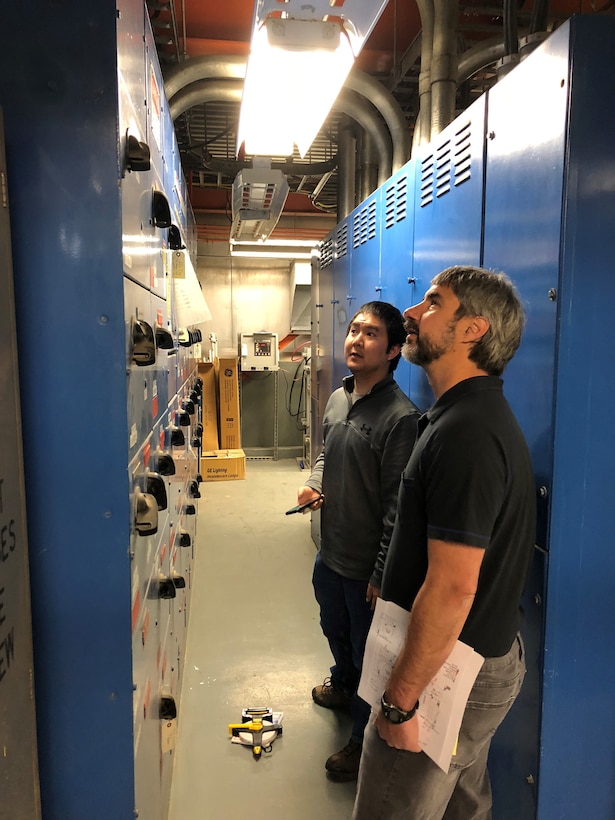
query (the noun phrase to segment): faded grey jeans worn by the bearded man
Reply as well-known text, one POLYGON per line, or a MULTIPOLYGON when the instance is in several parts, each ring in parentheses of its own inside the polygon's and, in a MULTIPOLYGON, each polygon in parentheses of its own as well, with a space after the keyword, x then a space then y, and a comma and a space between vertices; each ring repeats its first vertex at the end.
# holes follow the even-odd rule
POLYGON ((387 746, 370 722, 352 820, 490 820, 489 746, 524 675, 525 653, 518 635, 506 655, 485 660, 470 692, 448 774, 424 752, 387 746))

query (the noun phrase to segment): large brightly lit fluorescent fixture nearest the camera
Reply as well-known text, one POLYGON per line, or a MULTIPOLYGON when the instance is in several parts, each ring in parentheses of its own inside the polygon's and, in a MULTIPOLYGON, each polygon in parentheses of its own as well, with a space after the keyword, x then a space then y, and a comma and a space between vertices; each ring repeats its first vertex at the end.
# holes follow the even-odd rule
POLYGON ((257 0, 237 152, 304 157, 388 0, 257 0))

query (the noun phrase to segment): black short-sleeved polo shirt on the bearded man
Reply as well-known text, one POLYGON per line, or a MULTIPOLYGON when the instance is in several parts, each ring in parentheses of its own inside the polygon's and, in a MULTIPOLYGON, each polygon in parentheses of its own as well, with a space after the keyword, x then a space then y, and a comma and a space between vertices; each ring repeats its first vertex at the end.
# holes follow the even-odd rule
POLYGON ((418 422, 399 490, 382 597, 411 609, 429 538, 485 550, 460 640, 485 657, 510 649, 532 559, 536 491, 527 444, 495 376, 466 379, 418 422))

